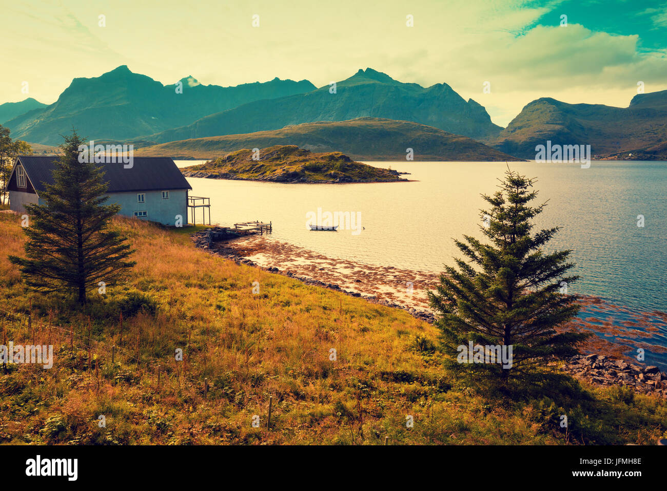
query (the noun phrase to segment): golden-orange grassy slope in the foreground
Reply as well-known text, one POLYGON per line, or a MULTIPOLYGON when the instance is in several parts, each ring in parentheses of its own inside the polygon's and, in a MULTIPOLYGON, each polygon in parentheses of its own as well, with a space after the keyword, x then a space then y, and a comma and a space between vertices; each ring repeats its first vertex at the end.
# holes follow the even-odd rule
POLYGON ((113 226, 137 267, 77 315, 25 290, 5 257, 21 253, 19 218, 0 214, 3 343, 55 345, 53 369, 0 370, 1 443, 653 444, 667 430, 664 401, 620 389, 477 393, 440 366, 434 327, 404 311, 214 257, 187 230, 113 226))

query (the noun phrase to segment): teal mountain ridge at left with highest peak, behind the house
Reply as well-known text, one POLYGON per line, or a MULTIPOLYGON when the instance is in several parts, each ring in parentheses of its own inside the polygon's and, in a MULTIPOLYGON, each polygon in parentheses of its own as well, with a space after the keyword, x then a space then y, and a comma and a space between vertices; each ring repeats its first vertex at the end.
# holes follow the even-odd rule
POLYGON ((273 79, 236 87, 204 86, 193 77, 163 86, 123 65, 99 77, 75 78, 58 100, 9 122, 14 136, 57 144, 72 126, 92 140, 129 139, 189 124, 247 102, 280 98, 315 88, 307 80, 273 79))

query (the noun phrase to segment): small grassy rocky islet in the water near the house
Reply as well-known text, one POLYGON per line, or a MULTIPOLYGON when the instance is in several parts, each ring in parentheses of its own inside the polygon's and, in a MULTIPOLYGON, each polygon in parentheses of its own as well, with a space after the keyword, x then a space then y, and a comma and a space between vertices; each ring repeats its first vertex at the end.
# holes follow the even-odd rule
POLYGON ((354 162, 341 152, 314 153, 296 145, 275 145, 259 152, 244 148, 181 172, 185 177, 318 184, 407 181, 396 170, 354 162))

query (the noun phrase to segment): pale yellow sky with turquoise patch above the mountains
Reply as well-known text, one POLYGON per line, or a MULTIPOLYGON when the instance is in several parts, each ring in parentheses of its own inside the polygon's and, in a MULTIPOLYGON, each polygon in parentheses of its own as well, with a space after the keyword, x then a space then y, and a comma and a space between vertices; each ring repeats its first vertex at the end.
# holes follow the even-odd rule
POLYGON ((51 104, 74 77, 119 65, 163 84, 318 87, 372 67, 449 84, 500 126, 540 97, 627 107, 638 82, 667 89, 667 0, 0 0, 0 12, 0 103, 51 104))

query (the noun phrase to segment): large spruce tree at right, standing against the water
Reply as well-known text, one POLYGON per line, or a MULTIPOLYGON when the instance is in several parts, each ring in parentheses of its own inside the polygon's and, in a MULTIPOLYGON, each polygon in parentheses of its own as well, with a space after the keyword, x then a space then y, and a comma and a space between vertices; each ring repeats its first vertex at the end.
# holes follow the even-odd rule
POLYGON ((508 168, 500 182, 493 196, 482 195, 492 206, 488 212, 480 210, 480 228, 490 243, 468 235, 465 242, 455 240, 466 260, 454 259, 457 267, 446 266, 436 291, 428 295, 438 314, 443 351, 460 375, 540 379, 547 375, 536 365, 576 354, 576 343, 587 337, 556 331, 578 313, 576 299, 563 289, 578 277, 566 276, 574 266, 568 262, 572 251, 542 250, 559 227, 531 234, 532 219, 546 206, 529 204, 537 196, 534 180, 508 168), (472 353, 466 361, 461 354, 470 351, 471 341, 474 347, 511 346, 511 367, 486 357, 498 351, 485 351, 487 363, 471 363, 472 353))

